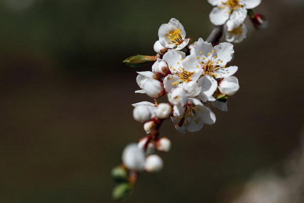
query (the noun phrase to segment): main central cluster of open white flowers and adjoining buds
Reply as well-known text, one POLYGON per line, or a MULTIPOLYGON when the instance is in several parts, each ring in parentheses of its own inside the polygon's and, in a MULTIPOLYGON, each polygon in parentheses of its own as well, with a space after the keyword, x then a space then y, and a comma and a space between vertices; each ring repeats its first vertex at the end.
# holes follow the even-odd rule
POLYGON ((233 45, 227 42, 213 47, 200 38, 191 46, 190 54, 178 51, 189 39, 183 25, 175 18, 162 24, 158 30, 159 40, 155 52, 167 52, 157 58, 152 71, 137 72, 141 90, 152 98, 166 95, 168 103, 136 103, 133 115, 136 121, 146 122, 144 129, 151 133, 154 121, 171 117, 175 128, 185 133, 195 132, 204 124, 214 124, 213 107, 227 110, 227 102, 217 100, 217 95, 233 95, 239 89, 235 76, 236 66, 227 67, 234 53, 233 45))

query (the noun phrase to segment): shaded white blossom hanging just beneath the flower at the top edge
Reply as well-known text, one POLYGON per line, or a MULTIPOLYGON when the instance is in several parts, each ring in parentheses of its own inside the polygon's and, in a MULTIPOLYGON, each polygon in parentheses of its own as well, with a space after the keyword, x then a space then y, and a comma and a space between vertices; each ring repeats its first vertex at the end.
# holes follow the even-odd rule
POLYGON ((245 23, 240 24, 240 26, 234 28, 231 31, 228 31, 227 24, 224 25, 224 36, 226 41, 232 42, 232 43, 239 43, 242 42, 248 33, 248 28, 245 25, 245 23))

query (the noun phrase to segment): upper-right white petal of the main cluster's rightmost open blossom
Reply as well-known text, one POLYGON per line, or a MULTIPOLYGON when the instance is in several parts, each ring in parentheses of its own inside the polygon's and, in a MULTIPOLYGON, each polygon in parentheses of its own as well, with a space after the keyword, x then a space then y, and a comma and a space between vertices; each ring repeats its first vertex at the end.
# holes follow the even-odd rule
POLYGON ((215 53, 218 57, 218 60, 222 60, 223 62, 220 65, 226 65, 232 59, 232 54, 235 53, 233 49, 233 45, 228 42, 220 43, 219 45, 214 47, 215 53))

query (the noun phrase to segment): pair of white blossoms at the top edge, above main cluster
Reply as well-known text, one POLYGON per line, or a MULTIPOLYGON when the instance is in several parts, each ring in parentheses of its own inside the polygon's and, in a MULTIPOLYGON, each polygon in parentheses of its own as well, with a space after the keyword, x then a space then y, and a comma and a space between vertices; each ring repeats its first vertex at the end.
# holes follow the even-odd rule
POLYGON ((238 43, 246 38, 248 29, 244 24, 248 9, 257 7, 261 0, 208 0, 216 6, 210 13, 210 21, 224 25, 226 41, 238 43))

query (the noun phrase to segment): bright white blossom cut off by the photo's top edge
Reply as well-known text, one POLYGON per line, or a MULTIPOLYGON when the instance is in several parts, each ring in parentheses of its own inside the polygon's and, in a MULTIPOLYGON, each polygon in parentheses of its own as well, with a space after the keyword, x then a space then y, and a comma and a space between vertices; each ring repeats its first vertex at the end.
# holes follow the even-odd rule
POLYGON ((261 3, 261 0, 208 0, 216 6, 210 13, 210 21, 215 25, 227 22, 228 31, 232 31, 244 22, 247 9, 252 9, 261 3))

